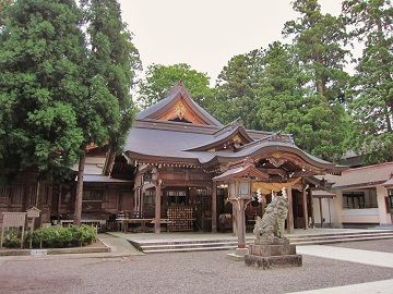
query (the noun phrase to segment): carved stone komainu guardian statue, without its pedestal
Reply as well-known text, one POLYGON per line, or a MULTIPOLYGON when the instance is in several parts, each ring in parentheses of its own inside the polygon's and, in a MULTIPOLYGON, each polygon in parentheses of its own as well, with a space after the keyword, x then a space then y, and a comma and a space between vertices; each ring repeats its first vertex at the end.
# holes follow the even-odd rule
POLYGON ((284 196, 275 196, 266 207, 262 219, 257 218, 253 233, 257 240, 284 238, 284 224, 288 213, 288 200, 284 196))

